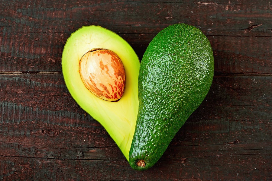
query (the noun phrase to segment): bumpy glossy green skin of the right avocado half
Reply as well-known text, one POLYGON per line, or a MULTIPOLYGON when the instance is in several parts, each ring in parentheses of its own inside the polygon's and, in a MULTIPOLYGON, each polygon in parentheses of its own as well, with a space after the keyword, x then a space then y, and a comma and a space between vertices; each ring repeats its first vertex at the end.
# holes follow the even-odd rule
POLYGON ((171 25, 151 41, 140 64, 139 111, 129 152, 135 170, 147 170, 202 103, 214 60, 207 37, 187 24, 171 25), (145 166, 138 166, 144 160, 145 166))

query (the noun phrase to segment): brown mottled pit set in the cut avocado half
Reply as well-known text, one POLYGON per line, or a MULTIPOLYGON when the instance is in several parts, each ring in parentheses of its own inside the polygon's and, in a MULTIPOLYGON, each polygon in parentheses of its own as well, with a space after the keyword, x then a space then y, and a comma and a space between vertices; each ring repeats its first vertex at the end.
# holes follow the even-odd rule
POLYGON ((125 69, 111 50, 92 49, 82 56, 79 73, 85 86, 97 97, 117 101, 125 90, 125 69))

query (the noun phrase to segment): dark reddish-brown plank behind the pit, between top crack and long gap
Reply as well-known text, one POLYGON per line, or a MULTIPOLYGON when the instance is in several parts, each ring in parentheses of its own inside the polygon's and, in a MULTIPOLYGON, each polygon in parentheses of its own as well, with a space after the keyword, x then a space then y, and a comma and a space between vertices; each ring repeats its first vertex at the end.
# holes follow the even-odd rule
MULTIPOLYGON (((2 33, 2 37, 0 34, 0 42, 3 42, 0 54, 3 63, 0 65, 0 71, 60 73, 63 46, 70 35, 47 33, 47 36, 44 36, 45 34, 2 33), (51 41, 55 36, 58 38, 51 41), (44 38, 35 40, 35 37, 44 38), (47 39, 50 41, 44 43, 47 39)), ((131 44, 140 59, 154 37, 145 35, 145 40, 140 42, 140 38, 135 39, 133 34, 121 36, 131 44)), ((214 51, 215 74, 271 74, 271 37, 208 36, 208 39, 214 51)))

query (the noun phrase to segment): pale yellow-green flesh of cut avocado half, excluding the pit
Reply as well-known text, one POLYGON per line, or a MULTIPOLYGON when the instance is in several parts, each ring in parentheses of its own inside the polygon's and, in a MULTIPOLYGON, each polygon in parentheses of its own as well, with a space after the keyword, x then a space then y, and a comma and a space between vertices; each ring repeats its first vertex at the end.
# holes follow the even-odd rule
POLYGON ((65 84, 79 106, 96 119, 116 142, 128 160, 138 113, 138 74, 140 61, 132 47, 118 34, 100 27, 85 26, 67 39, 62 53, 65 84), (93 94, 81 79, 81 58, 92 50, 110 50, 125 69, 125 88, 118 101, 103 100, 93 94))

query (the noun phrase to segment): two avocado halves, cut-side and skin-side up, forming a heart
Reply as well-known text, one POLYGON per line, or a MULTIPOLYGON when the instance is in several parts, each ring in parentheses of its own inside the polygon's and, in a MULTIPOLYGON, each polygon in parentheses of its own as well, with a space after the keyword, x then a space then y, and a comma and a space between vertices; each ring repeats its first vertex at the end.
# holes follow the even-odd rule
POLYGON ((62 70, 79 106, 107 130, 133 169, 147 170, 206 97, 214 60, 207 37, 187 24, 160 31, 141 64, 119 35, 86 26, 67 40, 62 70))

